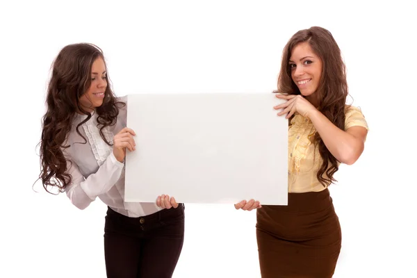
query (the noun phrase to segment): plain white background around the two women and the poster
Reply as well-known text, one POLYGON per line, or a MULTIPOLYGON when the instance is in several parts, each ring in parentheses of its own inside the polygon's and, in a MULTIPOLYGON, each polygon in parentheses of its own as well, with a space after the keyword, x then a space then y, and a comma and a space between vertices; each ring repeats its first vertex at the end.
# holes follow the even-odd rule
MULTIPOLYGON (((106 206, 85 211, 37 183, 49 67, 66 44, 104 50, 117 95, 276 88, 302 28, 334 35, 370 132, 331 186, 343 229, 334 277, 417 277, 416 19, 405 1, 1 1, 0 277, 105 277, 106 206)), ((244 113, 244 111, 243 111, 244 113)), ((255 212, 186 204, 174 277, 260 277, 255 212)))

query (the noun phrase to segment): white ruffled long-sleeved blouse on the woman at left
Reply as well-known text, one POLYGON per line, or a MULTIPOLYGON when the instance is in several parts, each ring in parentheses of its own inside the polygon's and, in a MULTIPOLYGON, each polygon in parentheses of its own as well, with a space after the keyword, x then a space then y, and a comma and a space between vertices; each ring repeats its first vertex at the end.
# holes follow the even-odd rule
MULTIPOLYGON (((121 97, 127 104, 127 98, 121 97)), ((126 127, 126 108, 120 108, 117 122, 103 130, 108 142, 113 143, 113 137, 126 127)), ((76 132, 76 126, 85 120, 86 115, 77 114, 72 123, 72 129, 67 139, 69 148, 64 154, 69 160, 67 173, 71 174, 72 182, 65 188, 67 197, 72 204, 84 209, 97 197, 114 211, 123 215, 137 218, 160 211, 155 203, 124 202, 124 163, 117 161, 113 155, 113 147, 104 142, 97 127, 97 115, 79 127, 85 140, 76 132)), ((157 196, 155 196, 156 199, 157 196)))

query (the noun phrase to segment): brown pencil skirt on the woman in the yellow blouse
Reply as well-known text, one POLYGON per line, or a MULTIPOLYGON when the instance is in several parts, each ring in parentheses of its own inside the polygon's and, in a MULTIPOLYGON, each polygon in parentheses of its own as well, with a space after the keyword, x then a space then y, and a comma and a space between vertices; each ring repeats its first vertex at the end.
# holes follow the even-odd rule
POLYGON ((288 193, 288 206, 256 212, 262 278, 332 277, 341 251, 341 226, 329 190, 288 193))

